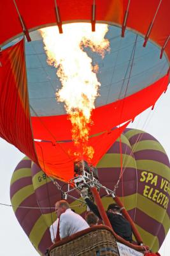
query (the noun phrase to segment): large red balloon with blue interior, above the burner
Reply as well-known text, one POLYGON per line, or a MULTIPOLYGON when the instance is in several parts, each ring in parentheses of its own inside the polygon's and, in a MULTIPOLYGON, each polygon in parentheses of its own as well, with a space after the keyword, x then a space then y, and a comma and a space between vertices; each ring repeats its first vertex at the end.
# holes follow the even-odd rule
MULTIPOLYGON (((59 73, 62 73, 59 72, 60 64, 59 67, 56 64, 56 76, 56 68, 46 64, 41 36, 32 35, 31 31, 57 24, 60 33, 64 33, 58 35, 57 31, 54 32, 53 39, 55 34, 66 35, 67 25, 64 23, 86 20, 96 32, 100 31, 97 30, 97 23, 109 24, 105 37, 110 41, 110 53, 106 52, 104 58, 94 52, 95 47, 91 50, 88 39, 88 44, 83 43, 80 47, 92 60, 92 76, 96 74, 101 83, 101 96, 96 99, 96 109, 92 109, 87 136, 87 146, 94 148, 90 163, 96 166, 127 124, 136 115, 154 106, 167 89, 169 4, 168 0, 62 0, 43 1, 43 4, 39 1, 25 4, 21 0, 3 2, 0 15, 0 47, 3 49, 0 59, 0 136, 24 152, 48 175, 64 181, 73 177, 73 162, 77 157, 73 153, 82 152, 83 148, 81 145, 75 147, 69 115, 63 102, 55 100, 55 91, 62 83, 59 78, 59 73), (21 40, 4 49, 9 46, 8 42, 22 34, 32 42, 26 42, 24 47, 24 40, 21 40), (115 128, 118 125, 120 127, 115 128)), ((79 31, 81 27, 82 24, 79 31)), ((76 33, 71 34, 65 40, 67 45, 75 37, 76 33)), ((66 52, 62 47, 58 50, 59 53, 66 52)), ((87 66, 84 64, 81 61, 76 68, 81 66, 85 72, 87 66)), ((72 59, 69 66, 74 66, 72 59)), ((84 82, 90 84, 88 79, 84 82)), ((80 86, 79 82, 74 84, 77 87, 71 92, 78 91, 76 89, 80 86)), ((71 92, 66 93, 68 98, 72 98, 71 92)), ((85 93, 81 95, 83 100, 87 99, 85 93)), ((82 156, 84 159, 85 154, 82 156)))

